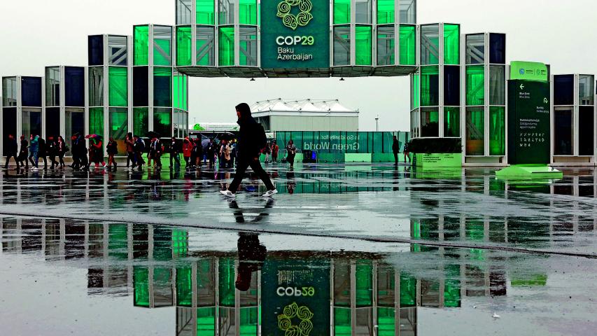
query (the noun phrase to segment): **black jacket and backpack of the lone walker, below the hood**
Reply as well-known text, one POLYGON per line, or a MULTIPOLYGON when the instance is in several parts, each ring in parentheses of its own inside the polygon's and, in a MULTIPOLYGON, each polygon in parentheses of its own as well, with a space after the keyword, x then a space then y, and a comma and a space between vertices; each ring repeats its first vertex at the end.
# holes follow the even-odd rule
POLYGON ((246 160, 258 158, 260 151, 267 143, 265 130, 263 130, 261 124, 257 123, 257 121, 251 117, 251 114, 241 115, 241 118, 237 123, 240 126, 239 144, 237 147, 239 158, 246 160))

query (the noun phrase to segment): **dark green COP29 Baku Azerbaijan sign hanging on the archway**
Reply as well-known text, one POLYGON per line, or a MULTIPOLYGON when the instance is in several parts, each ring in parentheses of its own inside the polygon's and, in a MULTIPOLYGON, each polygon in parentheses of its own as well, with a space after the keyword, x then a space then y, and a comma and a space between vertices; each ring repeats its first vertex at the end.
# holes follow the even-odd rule
POLYGON ((262 0, 261 67, 330 67, 330 2, 262 0))

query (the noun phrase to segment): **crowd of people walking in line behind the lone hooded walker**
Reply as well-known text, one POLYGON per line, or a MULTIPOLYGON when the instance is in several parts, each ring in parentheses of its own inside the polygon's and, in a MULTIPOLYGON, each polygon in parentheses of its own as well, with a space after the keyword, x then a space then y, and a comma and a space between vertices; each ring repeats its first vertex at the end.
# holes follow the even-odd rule
MULTIPOLYGON (((99 136, 88 136, 87 139, 82 134, 73 134, 71 137, 71 147, 64 141, 62 136, 41 138, 40 135, 31 134, 29 141, 22 135, 20 144, 15 137, 8 135, 8 143, 5 144, 6 162, 4 169, 8 169, 10 160, 14 160, 17 170, 31 171, 40 169, 40 163, 43 162, 43 169, 48 169, 48 159, 50 161, 49 169, 64 169, 64 156, 71 156, 72 164, 69 166, 74 170, 88 171, 90 169, 106 169, 115 172, 118 167, 116 157, 119 154, 126 154, 126 170, 141 171, 144 167, 153 167, 162 169, 162 155, 169 153, 170 168, 181 169, 181 158, 185 162, 185 169, 199 169, 202 166, 218 167, 219 169, 233 169, 237 167, 239 161, 238 141, 237 139, 209 139, 202 141, 201 138, 184 139, 171 138, 171 142, 164 144, 157 137, 148 140, 142 139, 138 135, 128 133, 124 139, 126 153, 119 153, 118 142, 110 138, 105 146, 105 153, 108 160, 104 160, 104 141, 99 136), (87 141, 89 144, 87 145, 87 141)), ((123 147, 124 147, 123 146, 123 147)), ((290 167, 294 165, 294 158, 297 148, 293 141, 289 141, 286 146, 286 162, 290 167)), ((265 155, 265 163, 279 162, 280 147, 276 141, 267 141, 264 148, 260 150, 260 155, 265 155)))

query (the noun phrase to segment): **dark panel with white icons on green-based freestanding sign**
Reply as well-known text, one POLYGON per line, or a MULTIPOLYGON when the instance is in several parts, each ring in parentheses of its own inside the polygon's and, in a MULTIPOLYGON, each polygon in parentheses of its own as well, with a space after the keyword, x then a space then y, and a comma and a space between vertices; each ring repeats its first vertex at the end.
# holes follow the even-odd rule
POLYGON ((508 82, 508 163, 547 165, 550 153, 549 82, 508 82))

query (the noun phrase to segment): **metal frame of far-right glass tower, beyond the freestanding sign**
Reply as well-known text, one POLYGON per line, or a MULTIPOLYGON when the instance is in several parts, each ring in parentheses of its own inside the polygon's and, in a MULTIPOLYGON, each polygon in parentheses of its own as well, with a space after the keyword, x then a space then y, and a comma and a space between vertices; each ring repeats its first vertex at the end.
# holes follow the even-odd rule
POLYGON ((597 104, 595 100, 597 95, 595 92, 595 76, 587 74, 566 74, 566 75, 552 75, 550 78, 551 85, 551 149, 552 149, 552 165, 573 165, 583 166, 589 165, 594 166, 597 162, 597 104), (573 104, 571 105, 556 105, 554 96, 559 94, 555 85, 555 80, 562 76, 573 76, 573 104), (587 87, 585 87, 587 86, 587 87), (584 95, 584 97, 581 96, 584 95), (572 110, 572 153, 570 155, 563 155, 556 153, 556 112, 563 111, 563 109, 572 110), (581 147, 581 109, 585 110, 584 113, 588 113, 591 109, 593 110, 593 153, 584 154, 580 153, 581 147), (588 111, 587 111, 588 110, 588 111))

